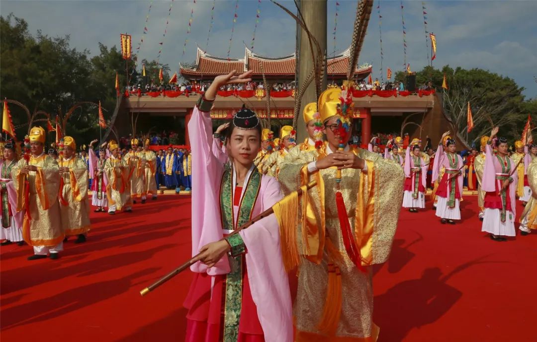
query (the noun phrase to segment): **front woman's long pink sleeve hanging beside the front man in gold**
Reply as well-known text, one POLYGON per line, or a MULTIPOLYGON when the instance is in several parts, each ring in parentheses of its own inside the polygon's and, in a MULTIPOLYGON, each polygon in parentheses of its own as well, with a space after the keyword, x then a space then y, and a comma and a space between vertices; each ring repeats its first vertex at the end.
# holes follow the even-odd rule
MULTIPOLYGON (((258 200, 262 210, 269 209, 282 196, 280 185, 273 177, 263 176, 258 200)), ((248 280, 253 302, 256 303, 259 322, 263 326, 265 341, 293 340, 292 301, 287 272, 281 258, 280 232, 274 215, 257 221, 241 234, 248 249, 245 254, 248 280)))

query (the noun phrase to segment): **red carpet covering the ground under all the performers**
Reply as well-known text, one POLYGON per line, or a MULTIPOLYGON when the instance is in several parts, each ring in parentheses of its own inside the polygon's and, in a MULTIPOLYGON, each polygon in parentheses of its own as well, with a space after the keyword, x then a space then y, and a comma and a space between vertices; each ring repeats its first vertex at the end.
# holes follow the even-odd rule
MULTIPOLYGON (((476 209, 467 196, 455 226, 432 210, 402 213, 390 260, 375 269, 380 342, 536 340, 537 234, 492 241, 476 209)), ((27 261, 28 246, 0 249, 2 341, 183 341, 192 274, 139 291, 190 256, 190 198, 92 213, 92 225, 88 242, 71 238, 56 261, 27 261)))

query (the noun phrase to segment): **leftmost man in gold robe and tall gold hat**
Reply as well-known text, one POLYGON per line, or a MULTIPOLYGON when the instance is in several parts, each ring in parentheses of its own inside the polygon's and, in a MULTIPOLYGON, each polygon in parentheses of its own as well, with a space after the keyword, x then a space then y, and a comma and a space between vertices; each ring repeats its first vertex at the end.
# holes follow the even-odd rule
POLYGON ((47 254, 57 259, 65 236, 56 200, 60 188, 58 163, 43 152, 45 137, 44 129, 32 128, 31 153, 28 158, 20 159, 11 171, 17 189, 17 211, 25 211, 23 239, 34 249, 28 260, 46 258, 47 254))

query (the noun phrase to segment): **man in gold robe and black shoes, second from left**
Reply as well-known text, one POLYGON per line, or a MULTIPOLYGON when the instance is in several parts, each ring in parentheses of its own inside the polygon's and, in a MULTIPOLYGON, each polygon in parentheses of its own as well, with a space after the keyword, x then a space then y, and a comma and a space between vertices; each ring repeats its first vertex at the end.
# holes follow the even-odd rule
POLYGON ((66 236, 78 235, 75 243, 86 241, 90 230, 90 202, 88 199, 88 167, 76 156, 76 142, 63 138, 63 157, 57 160, 60 167, 60 213, 66 236))

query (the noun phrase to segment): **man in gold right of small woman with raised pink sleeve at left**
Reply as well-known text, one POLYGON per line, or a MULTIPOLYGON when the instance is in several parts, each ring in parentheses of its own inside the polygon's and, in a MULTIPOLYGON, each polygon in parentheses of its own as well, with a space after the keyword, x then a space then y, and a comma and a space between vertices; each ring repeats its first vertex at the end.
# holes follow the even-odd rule
POLYGON ((129 187, 129 177, 132 172, 127 161, 119 156, 118 143, 110 140, 108 149, 111 155, 104 164, 104 173, 107 179, 108 214, 114 215, 116 210, 132 212, 129 187))

